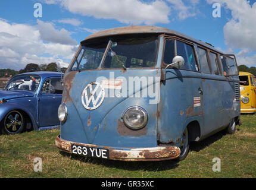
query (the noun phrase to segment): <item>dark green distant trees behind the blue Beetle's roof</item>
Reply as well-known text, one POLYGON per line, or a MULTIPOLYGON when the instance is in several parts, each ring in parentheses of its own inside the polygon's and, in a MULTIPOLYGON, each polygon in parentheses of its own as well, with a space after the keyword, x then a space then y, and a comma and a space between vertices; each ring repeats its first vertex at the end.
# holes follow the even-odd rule
MULTIPOLYGON (((13 69, 0 69, 0 77, 4 77, 5 74, 8 74, 8 76, 17 75, 25 72, 36 72, 36 71, 54 71, 58 72, 58 65, 56 63, 50 63, 50 64, 27 64, 24 69, 20 69, 20 71, 15 71, 13 69)), ((67 68, 63 67, 60 69, 61 72, 65 72, 67 68)))

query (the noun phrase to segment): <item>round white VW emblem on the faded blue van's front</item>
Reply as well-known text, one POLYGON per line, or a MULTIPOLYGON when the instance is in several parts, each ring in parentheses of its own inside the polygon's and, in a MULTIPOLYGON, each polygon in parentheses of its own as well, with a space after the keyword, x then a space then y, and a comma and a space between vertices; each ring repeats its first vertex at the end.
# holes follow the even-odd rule
POLYGON ((88 110, 97 109, 105 98, 105 90, 101 84, 93 82, 88 84, 82 93, 83 106, 88 110))

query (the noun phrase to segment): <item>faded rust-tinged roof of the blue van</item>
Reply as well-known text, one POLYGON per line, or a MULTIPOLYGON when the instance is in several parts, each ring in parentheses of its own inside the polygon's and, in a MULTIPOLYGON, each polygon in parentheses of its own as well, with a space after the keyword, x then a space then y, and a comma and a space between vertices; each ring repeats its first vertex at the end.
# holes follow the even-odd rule
POLYGON ((127 27, 118 27, 113 29, 102 30, 86 37, 86 39, 83 40, 81 43, 86 42, 87 40, 96 39, 98 37, 116 36, 116 35, 123 35, 123 34, 143 34, 143 33, 170 34, 173 36, 182 37, 183 39, 188 39, 189 41, 192 41, 199 45, 213 49, 216 52, 220 52, 221 54, 224 54, 220 50, 208 45, 207 43, 201 42, 200 40, 194 39, 193 37, 182 34, 179 31, 170 30, 163 27, 155 27, 155 26, 127 26, 127 27))

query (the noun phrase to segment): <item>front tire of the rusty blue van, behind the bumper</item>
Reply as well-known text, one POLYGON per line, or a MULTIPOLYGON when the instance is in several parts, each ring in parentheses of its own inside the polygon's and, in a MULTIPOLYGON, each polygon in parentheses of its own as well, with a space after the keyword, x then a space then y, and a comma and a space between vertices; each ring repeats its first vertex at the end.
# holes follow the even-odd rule
POLYGON ((180 139, 180 156, 177 157, 177 161, 182 161, 186 159, 189 153, 189 132, 188 128, 182 134, 182 138, 180 139))

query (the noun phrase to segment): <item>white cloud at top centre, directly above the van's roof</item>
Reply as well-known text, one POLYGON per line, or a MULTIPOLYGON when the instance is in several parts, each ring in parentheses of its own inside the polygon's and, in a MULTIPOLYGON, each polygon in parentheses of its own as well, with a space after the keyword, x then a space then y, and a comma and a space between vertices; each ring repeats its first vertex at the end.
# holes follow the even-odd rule
POLYGON ((125 24, 169 23, 170 7, 166 2, 154 0, 55 0, 46 4, 60 4, 74 14, 93 16, 95 18, 115 19, 125 24))

